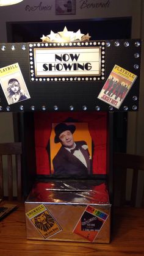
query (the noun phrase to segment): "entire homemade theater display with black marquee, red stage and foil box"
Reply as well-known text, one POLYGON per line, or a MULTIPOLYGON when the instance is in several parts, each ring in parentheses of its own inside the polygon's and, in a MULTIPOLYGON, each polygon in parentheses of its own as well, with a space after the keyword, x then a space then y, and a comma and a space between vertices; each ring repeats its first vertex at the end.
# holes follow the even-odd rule
POLYGON ((0 112, 18 113, 24 196, 31 191, 28 239, 110 241, 113 112, 139 109, 142 42, 85 40, 0 44, 0 112), (60 142, 66 127, 73 157, 60 142))

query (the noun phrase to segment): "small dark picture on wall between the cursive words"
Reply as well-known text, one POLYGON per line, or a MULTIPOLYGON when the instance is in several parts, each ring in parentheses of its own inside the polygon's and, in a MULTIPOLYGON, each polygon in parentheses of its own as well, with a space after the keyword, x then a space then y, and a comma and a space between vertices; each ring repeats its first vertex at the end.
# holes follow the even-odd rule
POLYGON ((56 15, 76 14, 76 0, 56 0, 56 15))

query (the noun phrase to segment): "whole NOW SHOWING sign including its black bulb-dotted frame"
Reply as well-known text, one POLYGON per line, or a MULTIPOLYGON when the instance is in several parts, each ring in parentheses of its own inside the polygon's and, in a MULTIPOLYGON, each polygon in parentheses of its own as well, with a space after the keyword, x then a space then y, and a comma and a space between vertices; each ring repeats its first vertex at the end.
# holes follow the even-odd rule
POLYGON ((46 47, 48 43, 43 43, 43 47, 31 47, 31 81, 104 79, 105 43, 98 46, 87 44, 87 47, 57 47, 57 43, 49 43, 49 47, 46 47))

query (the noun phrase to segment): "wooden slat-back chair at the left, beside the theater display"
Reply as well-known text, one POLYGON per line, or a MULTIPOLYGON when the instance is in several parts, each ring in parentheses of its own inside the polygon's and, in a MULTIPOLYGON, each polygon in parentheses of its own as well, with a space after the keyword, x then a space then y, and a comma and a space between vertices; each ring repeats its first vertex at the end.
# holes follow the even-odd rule
POLYGON ((21 201, 21 142, 0 144, 0 199, 13 200, 13 161, 16 163, 17 200, 21 201), (4 167, 2 161, 7 156, 8 197, 4 197, 4 167), (15 157, 14 157, 14 156, 15 157))

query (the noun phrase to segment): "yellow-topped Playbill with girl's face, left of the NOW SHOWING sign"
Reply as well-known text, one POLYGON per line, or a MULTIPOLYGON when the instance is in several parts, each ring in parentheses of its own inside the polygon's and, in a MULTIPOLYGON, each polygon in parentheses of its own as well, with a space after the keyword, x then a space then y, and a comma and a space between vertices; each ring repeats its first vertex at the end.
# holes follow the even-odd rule
POLYGON ((0 83, 9 105, 31 98, 18 63, 0 68, 0 83))

